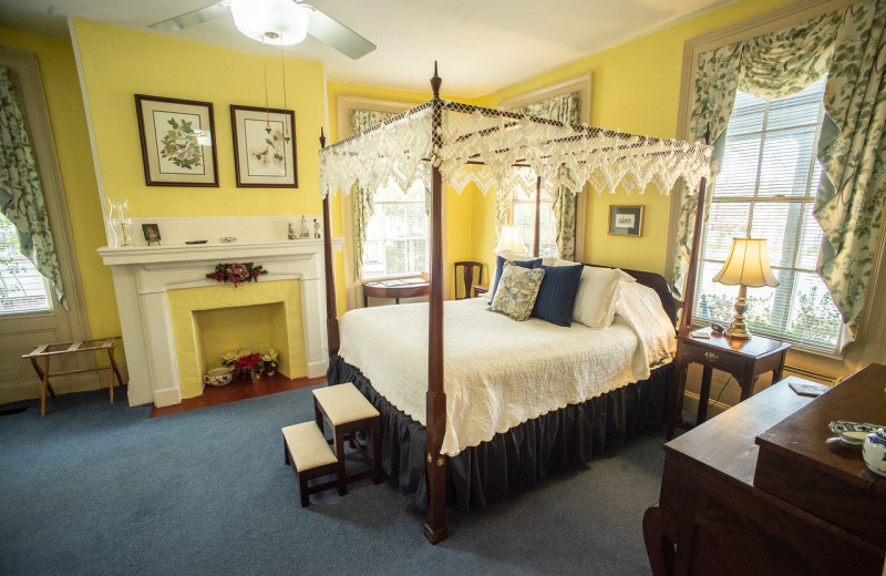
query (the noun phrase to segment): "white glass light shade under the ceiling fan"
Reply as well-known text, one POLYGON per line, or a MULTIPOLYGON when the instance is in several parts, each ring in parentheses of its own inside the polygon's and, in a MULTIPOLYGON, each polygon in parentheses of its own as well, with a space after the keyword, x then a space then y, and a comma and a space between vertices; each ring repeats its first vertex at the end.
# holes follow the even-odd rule
POLYGON ((240 33, 267 44, 298 44, 308 35, 308 13, 292 0, 231 0, 230 16, 240 33))

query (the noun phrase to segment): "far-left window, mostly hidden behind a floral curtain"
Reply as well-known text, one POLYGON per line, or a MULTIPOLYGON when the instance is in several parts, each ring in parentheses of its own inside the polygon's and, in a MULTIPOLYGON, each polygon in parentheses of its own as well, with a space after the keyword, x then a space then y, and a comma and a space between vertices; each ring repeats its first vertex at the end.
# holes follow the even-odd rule
POLYGON ((0 315, 50 309, 47 282, 19 251, 16 225, 0 214, 0 315))

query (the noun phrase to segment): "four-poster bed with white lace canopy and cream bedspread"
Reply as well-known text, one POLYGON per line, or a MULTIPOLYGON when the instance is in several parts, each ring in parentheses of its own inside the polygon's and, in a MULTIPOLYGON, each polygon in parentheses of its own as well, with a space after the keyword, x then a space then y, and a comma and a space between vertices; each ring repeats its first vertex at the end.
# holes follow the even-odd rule
MULTIPOLYGON (((630 276, 616 277, 625 280, 616 285, 626 286, 629 296, 606 300, 609 323, 599 329, 581 323, 562 328, 569 318, 560 326, 538 318, 516 322, 482 311, 485 298, 446 302, 444 316, 443 184, 461 192, 474 183, 485 194, 527 181, 538 188, 574 191, 589 183, 597 191, 621 186, 642 192, 652 183, 667 193, 682 178, 700 183, 703 197, 711 154, 701 144, 443 101, 440 85, 435 66, 433 100, 320 151, 327 230, 329 195, 349 192, 357 181, 375 191, 389 183, 406 189, 421 179, 431 191, 430 302, 389 307, 384 318, 372 309, 348 312, 341 319, 341 350, 330 235, 324 239, 329 383, 352 381, 382 412, 385 472, 401 492, 426 505, 424 534, 432 543, 447 536, 447 493, 462 507, 482 505, 492 494, 532 484, 548 469, 587 461, 607 442, 661 422, 663 405, 673 402, 667 393, 679 306, 661 276, 627 270, 630 276), (447 330, 445 347, 444 322, 457 328, 447 330), (463 332, 472 326, 474 331, 463 332), (384 342, 379 333, 385 335, 384 342), (473 343, 460 346, 462 338, 473 343), (476 350, 476 342, 486 346, 476 350), (477 368, 484 356, 492 363, 477 368), (620 360, 602 364, 602 358, 620 360), (492 381, 496 378, 497 383, 492 381)), ((552 271, 554 265, 576 263, 545 264, 554 277, 559 274, 552 271)), ((517 268, 504 266, 501 278, 517 268)), ((595 277, 580 268, 581 281, 595 277)), ((606 270, 600 275, 607 278, 624 275, 606 270)), ((573 301, 578 301, 575 292, 569 317, 573 301)))

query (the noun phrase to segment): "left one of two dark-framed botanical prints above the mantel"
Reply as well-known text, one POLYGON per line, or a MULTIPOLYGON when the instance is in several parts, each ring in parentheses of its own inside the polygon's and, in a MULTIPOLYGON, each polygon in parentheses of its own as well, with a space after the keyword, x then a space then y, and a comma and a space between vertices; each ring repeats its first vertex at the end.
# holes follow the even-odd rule
POLYGON ((135 94, 145 184, 218 186, 212 102, 135 94))

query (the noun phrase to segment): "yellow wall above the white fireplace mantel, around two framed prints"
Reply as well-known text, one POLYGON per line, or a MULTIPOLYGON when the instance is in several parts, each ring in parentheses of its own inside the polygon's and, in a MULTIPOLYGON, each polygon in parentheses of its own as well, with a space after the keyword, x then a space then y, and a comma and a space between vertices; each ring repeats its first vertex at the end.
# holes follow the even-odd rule
MULTIPOLYGON (((319 160, 317 135, 323 121, 319 62, 286 59, 284 104, 279 59, 268 65, 271 107, 296 111, 299 187, 238 188, 234 168, 230 104, 265 105, 262 58, 207 44, 136 32, 90 21, 74 22, 97 162, 106 198, 127 198, 133 217, 253 216, 316 214, 319 160), (218 187, 147 186, 144 179, 134 94, 210 102, 215 116, 218 187)), ((79 102, 79 100, 78 100, 79 102)), ((91 163, 89 165, 92 168, 91 163)), ((97 205, 97 194, 92 194, 97 205)), ((97 206, 96 206, 97 207, 97 206)), ((101 212, 93 208, 95 229, 101 212)), ((73 220, 76 226, 76 222, 73 220)), ((99 246, 104 245, 101 241, 99 246)), ((96 246, 97 247, 97 246, 96 246)), ((94 247, 93 247, 94 250, 94 247)), ((103 276, 110 278, 106 270, 103 276)), ((120 332, 113 285, 96 286, 103 307, 96 322, 120 332)), ((91 313, 92 317, 92 313, 91 313)))

